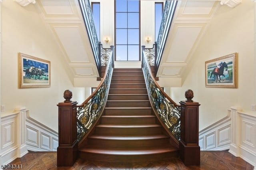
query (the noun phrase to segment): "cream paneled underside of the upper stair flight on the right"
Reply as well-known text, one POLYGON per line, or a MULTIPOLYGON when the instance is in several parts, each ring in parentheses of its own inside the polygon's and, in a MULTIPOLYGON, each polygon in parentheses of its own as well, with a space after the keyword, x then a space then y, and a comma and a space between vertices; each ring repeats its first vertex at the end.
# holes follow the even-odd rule
POLYGON ((181 77, 219 4, 218 1, 202 0, 178 2, 158 77, 181 77))

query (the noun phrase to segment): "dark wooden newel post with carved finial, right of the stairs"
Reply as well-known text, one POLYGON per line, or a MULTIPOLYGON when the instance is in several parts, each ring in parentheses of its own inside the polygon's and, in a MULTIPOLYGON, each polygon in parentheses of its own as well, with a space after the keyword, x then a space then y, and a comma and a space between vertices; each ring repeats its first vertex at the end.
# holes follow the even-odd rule
POLYGON ((180 101, 180 158, 185 165, 200 165, 200 146, 198 145, 199 106, 192 98, 192 90, 185 92, 186 101, 180 101))

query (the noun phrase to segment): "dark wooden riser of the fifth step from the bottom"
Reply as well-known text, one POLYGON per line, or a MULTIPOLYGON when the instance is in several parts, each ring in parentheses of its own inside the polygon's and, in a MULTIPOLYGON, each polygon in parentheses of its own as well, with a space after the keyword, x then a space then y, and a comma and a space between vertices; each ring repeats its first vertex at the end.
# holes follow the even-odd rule
POLYGON ((104 109, 105 115, 152 115, 152 109, 104 109))

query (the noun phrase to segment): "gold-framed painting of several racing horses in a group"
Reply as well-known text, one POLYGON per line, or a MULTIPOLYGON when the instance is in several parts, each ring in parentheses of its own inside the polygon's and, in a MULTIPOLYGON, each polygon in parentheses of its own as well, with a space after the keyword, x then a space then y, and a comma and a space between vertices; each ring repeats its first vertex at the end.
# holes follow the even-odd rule
POLYGON ((19 88, 50 87, 50 61, 18 53, 19 88))

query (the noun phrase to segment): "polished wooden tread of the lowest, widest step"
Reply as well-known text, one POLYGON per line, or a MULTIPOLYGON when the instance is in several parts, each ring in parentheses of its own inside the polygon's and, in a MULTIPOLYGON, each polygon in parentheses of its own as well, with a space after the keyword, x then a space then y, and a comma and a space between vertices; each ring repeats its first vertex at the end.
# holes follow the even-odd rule
POLYGON ((81 148, 80 152, 91 152, 96 154, 111 154, 111 155, 146 155, 160 154, 166 152, 175 152, 178 149, 171 145, 154 146, 154 147, 102 147, 102 146, 87 146, 81 148))

